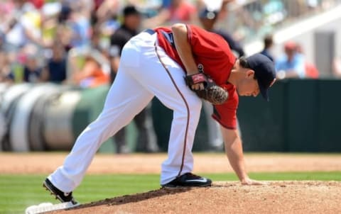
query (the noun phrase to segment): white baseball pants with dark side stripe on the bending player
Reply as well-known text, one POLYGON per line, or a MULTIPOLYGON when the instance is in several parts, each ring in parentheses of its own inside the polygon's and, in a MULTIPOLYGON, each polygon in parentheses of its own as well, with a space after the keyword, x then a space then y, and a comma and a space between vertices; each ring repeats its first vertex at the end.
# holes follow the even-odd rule
POLYGON ((102 143, 128 125, 153 96, 173 110, 161 184, 193 170, 192 147, 202 103, 185 84, 183 69, 155 43, 156 33, 142 32, 124 46, 102 113, 77 138, 63 166, 48 176, 61 191, 73 191, 80 184, 102 143))

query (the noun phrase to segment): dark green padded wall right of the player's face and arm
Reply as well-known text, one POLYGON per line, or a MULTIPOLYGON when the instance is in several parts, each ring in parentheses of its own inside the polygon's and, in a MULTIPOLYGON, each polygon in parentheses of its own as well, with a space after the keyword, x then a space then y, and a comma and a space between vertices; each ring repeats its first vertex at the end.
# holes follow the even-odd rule
POLYGON ((269 103, 241 97, 244 150, 341 152, 340 80, 277 81, 269 103))

